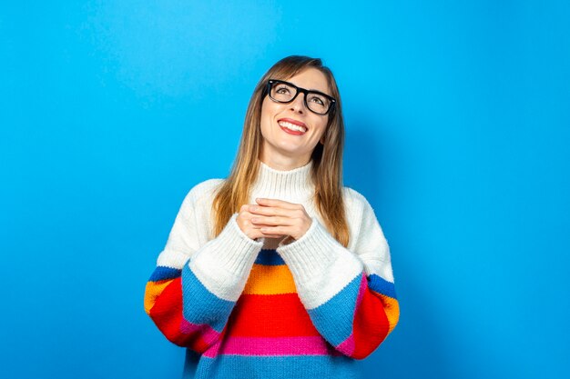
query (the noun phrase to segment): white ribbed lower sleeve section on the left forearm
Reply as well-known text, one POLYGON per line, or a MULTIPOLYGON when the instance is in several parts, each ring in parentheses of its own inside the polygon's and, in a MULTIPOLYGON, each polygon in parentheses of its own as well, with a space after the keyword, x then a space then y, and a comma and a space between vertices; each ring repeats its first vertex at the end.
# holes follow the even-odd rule
POLYGON ((209 292, 229 301, 238 300, 263 246, 239 229, 237 216, 233 214, 218 237, 198 250, 189 262, 209 292))

